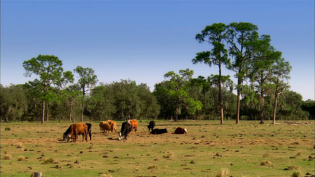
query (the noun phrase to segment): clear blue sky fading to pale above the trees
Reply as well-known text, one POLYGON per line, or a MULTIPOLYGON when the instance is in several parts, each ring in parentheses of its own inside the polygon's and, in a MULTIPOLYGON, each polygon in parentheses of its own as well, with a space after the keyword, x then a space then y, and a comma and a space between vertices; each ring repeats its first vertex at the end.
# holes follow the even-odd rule
MULTIPOLYGON (((151 90, 168 71, 193 77, 218 67, 192 64, 210 50, 195 35, 213 23, 250 22, 269 34, 292 70, 291 90, 314 97, 314 0, 1 0, 1 84, 24 84, 23 61, 54 55, 64 71, 95 70, 99 82, 130 79, 151 90)), ((234 73, 223 69, 223 75, 234 73)), ((235 81, 235 80, 234 80, 235 81)))

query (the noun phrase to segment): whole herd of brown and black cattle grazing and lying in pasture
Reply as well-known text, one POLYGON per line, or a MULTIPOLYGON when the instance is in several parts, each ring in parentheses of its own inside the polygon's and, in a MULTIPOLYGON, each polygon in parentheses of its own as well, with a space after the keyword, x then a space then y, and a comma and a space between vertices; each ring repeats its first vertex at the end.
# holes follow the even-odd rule
MULTIPOLYGON (((167 133, 167 129, 159 129, 154 128, 156 126, 156 122, 151 120, 148 129, 151 130, 151 134, 163 134, 167 133)), ((74 123, 69 126, 69 128, 63 133, 63 141, 73 139, 73 142, 77 142, 77 138, 79 135, 82 135, 82 142, 84 139, 88 142, 88 135, 90 136, 90 141, 92 140, 92 124, 91 123, 74 123)), ((113 120, 101 121, 99 123, 99 129, 103 132, 107 131, 117 131, 117 123, 113 120)), ((128 119, 127 121, 122 123, 121 131, 119 132, 118 139, 121 140, 124 137, 124 140, 127 140, 127 135, 132 132, 138 132, 138 121, 136 119, 128 119)), ((186 128, 177 127, 174 131, 174 134, 187 134, 186 128)))

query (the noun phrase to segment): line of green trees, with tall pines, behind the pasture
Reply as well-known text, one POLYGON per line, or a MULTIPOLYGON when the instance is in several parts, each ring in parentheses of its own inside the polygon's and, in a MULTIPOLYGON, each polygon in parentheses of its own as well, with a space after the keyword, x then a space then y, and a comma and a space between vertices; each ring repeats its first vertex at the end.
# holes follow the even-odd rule
POLYGON ((38 55, 23 62, 25 77, 38 78, 22 85, 1 87, 1 121, 28 118, 90 120, 122 118, 179 117, 216 119, 224 117, 266 116, 273 123, 280 116, 314 116, 313 100, 288 90, 291 66, 271 44, 270 35, 258 34, 257 26, 246 23, 215 23, 206 26, 195 39, 209 45, 198 52, 192 64, 218 66, 217 75, 193 78, 189 68, 169 71, 154 91, 135 81, 98 83, 92 68, 77 66, 63 71, 56 56, 38 55), (222 67, 235 72, 237 83, 221 74, 222 67), (236 89, 235 95, 232 91, 236 89))

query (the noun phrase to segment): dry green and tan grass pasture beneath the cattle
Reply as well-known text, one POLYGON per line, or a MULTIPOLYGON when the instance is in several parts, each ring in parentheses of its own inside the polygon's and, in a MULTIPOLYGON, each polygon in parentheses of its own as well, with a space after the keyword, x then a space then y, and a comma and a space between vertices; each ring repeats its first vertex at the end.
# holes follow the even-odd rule
MULTIPOLYGON (((119 141, 92 122, 92 141, 62 141, 71 123, 1 123, 0 176, 31 177, 311 177, 314 120, 156 121, 168 133, 151 135, 149 121, 119 141), (187 135, 172 134, 176 127, 187 135)), ((122 122, 118 123, 120 131, 122 122)))

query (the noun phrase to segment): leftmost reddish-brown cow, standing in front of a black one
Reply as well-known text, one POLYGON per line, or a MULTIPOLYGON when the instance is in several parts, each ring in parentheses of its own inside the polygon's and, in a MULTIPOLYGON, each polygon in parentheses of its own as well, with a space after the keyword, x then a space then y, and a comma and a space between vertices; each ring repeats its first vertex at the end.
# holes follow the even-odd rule
MULTIPOLYGON (((74 123, 63 133, 63 140, 67 139, 69 142, 70 138, 73 138, 73 142, 77 142, 79 135, 82 135, 82 142, 84 139, 88 142, 88 125, 85 123, 74 123), (85 136, 86 135, 86 136, 85 136)), ((91 138, 91 136, 90 136, 91 138)))

